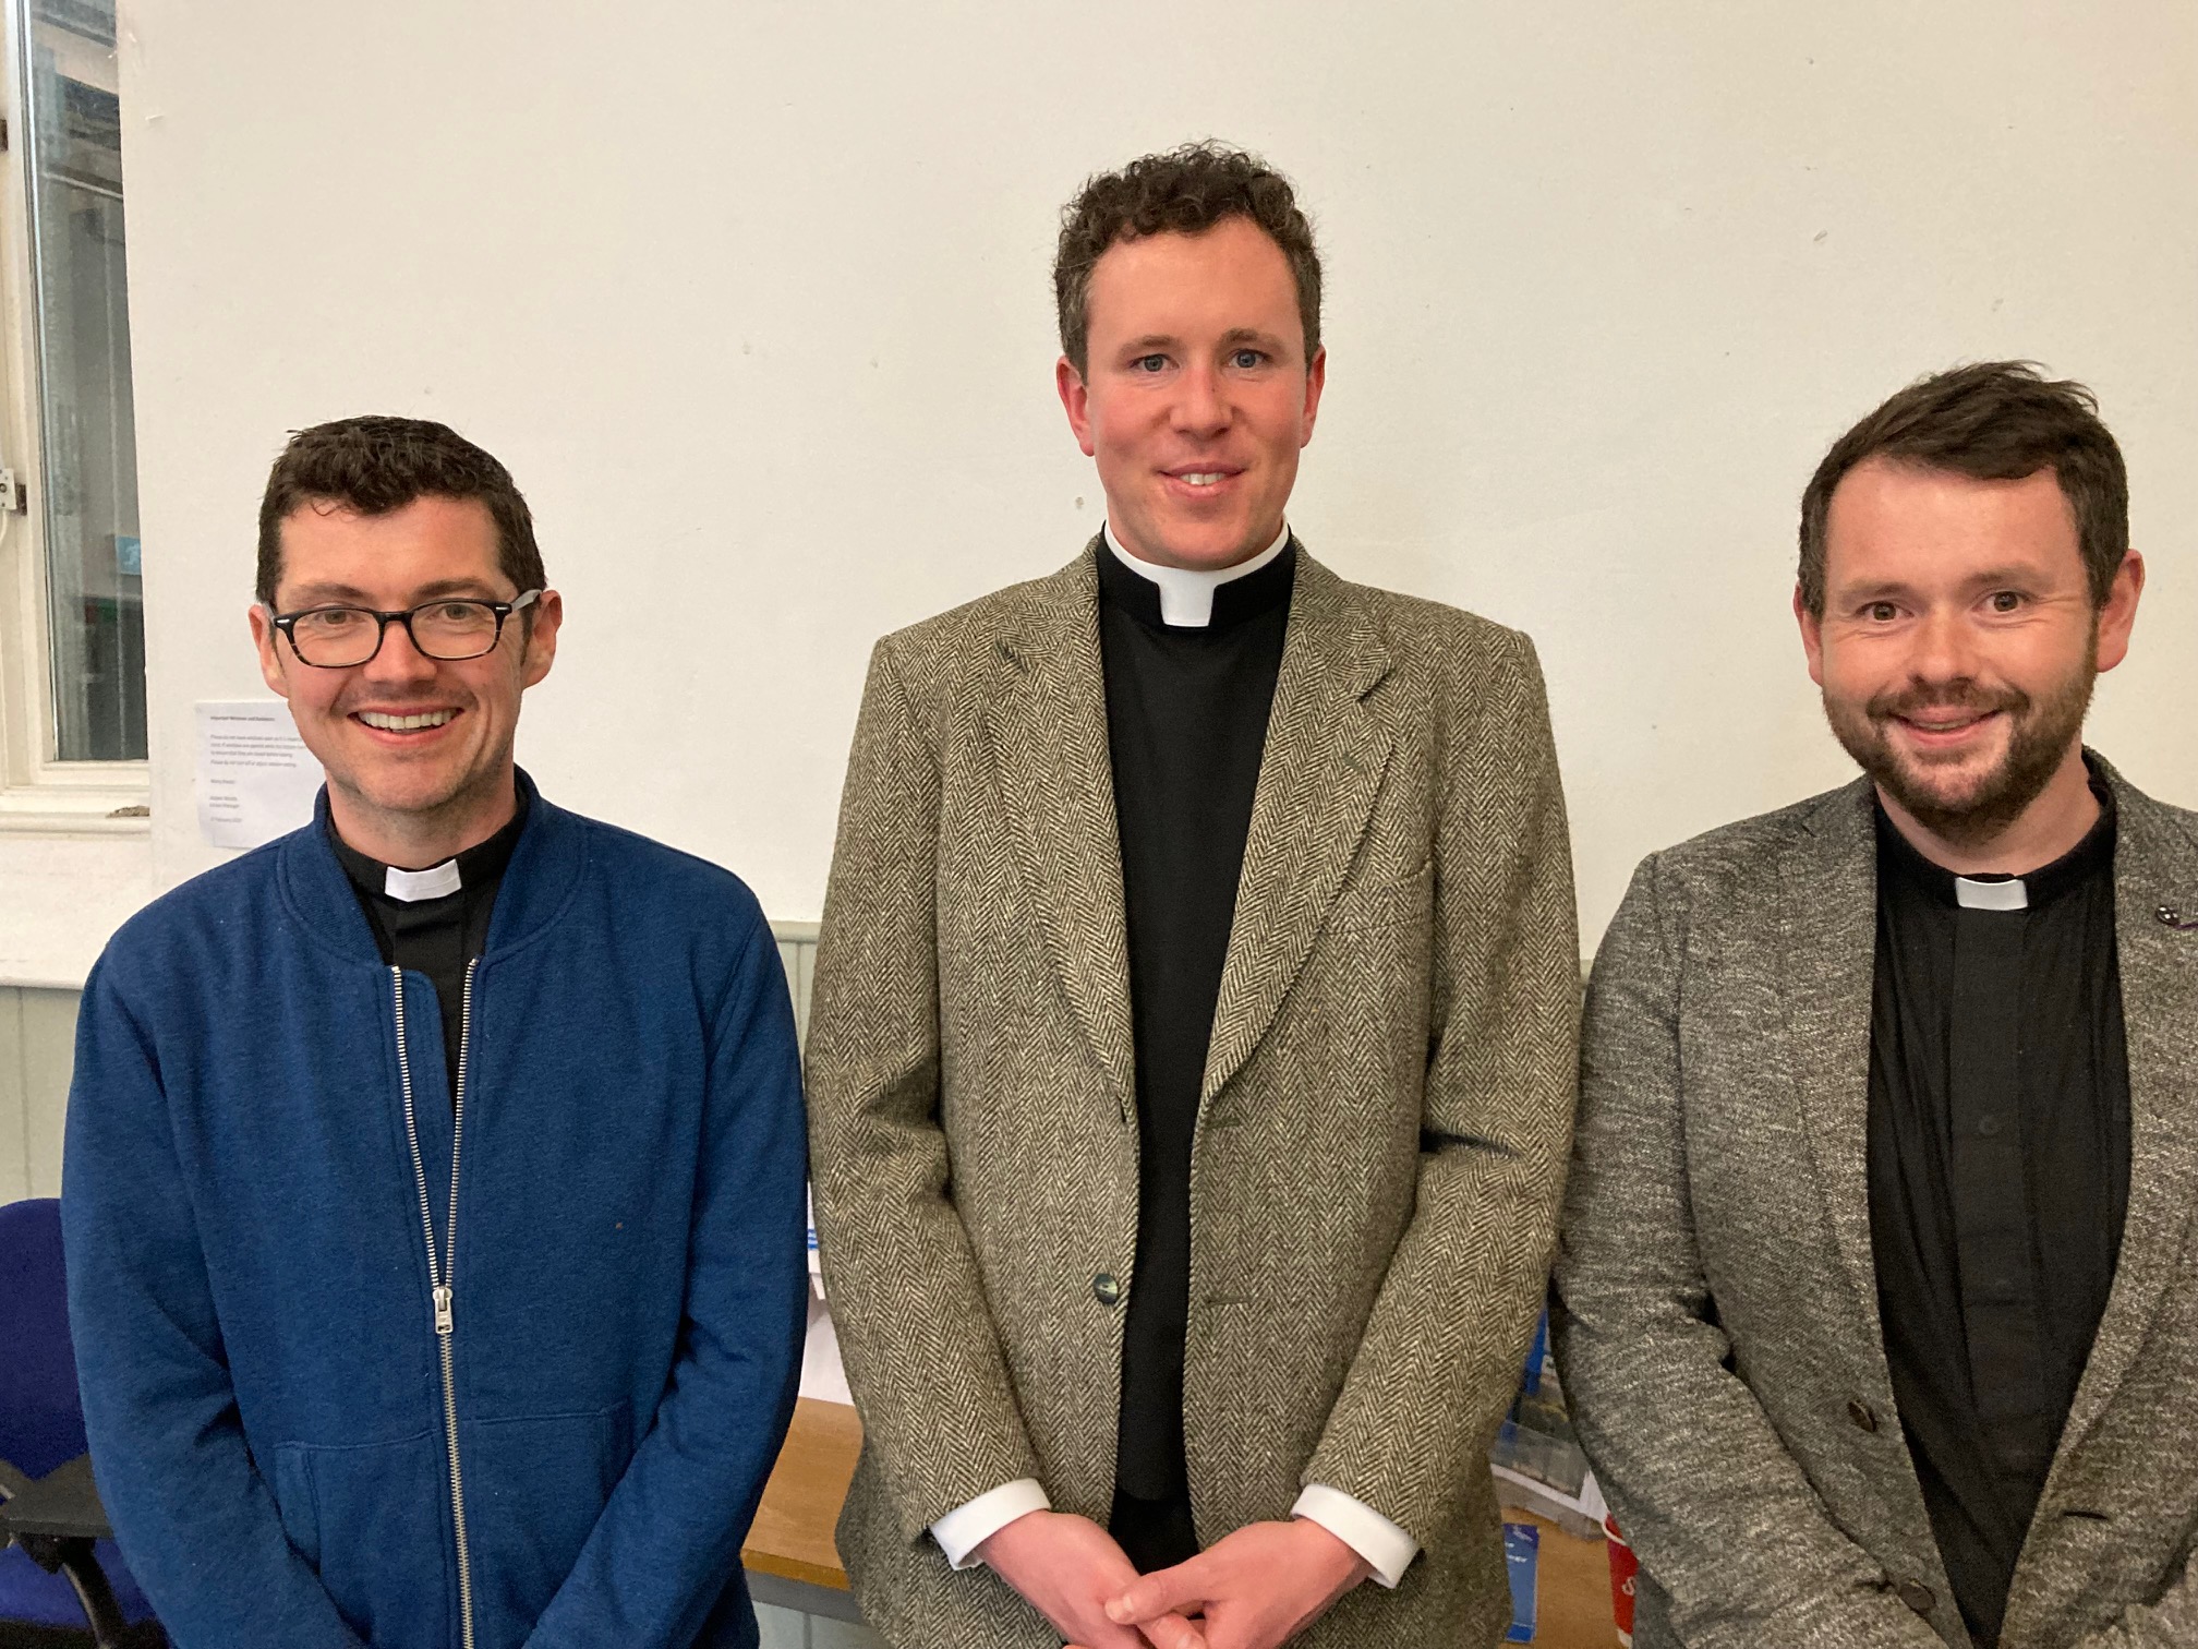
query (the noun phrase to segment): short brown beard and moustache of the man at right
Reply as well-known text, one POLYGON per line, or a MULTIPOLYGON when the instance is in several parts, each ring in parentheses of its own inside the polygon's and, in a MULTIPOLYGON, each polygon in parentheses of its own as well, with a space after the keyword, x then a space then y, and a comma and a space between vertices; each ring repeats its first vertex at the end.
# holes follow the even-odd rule
POLYGON ((2090 690, 2099 679, 2097 644, 2086 651, 2082 668, 2033 699, 2013 686, 1985 688, 1974 679, 1945 684, 1912 682, 1892 693, 1879 693, 1868 704, 1824 697, 1824 719, 1833 737, 1855 759, 1877 787, 1899 803, 1910 818, 1943 842, 1983 846, 2022 818, 2022 811, 2044 794, 2044 787, 2068 759, 2068 745, 2084 730, 2090 690), (2007 750, 1974 778, 1961 772, 1963 756, 1934 761, 1901 754, 1892 745, 1888 723, 1895 717, 1917 717, 1930 710, 1969 715, 2000 712, 2007 717, 2007 750))

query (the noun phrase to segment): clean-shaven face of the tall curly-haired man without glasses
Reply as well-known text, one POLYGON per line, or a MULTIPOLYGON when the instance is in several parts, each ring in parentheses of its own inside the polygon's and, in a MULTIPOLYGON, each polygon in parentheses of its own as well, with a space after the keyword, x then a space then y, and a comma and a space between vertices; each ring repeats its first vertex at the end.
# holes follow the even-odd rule
POLYGON ((1121 547, 1207 569, 1266 550, 1328 369, 1281 246, 1248 218, 1117 242, 1088 319, 1086 372, 1064 356, 1055 383, 1121 547))

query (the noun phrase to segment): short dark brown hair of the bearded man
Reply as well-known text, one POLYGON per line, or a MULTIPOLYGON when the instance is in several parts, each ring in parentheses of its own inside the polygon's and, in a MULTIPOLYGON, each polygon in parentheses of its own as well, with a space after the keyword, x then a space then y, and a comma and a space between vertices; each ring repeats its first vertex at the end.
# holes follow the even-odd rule
POLYGON ((1800 598, 1818 618, 1831 495, 1870 457, 1974 482, 2053 471, 2075 517, 2090 605, 2106 605, 2130 552, 2130 473, 2084 385, 2046 378, 2035 361, 1980 361, 1917 378, 1840 435, 1800 495, 1800 598))

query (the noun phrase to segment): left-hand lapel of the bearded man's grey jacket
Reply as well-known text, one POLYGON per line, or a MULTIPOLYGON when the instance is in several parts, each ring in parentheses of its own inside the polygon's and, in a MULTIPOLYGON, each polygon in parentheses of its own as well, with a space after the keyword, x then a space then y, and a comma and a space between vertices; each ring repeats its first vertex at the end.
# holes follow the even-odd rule
MULTIPOLYGON (((1778 965, 1785 1064, 1800 1086, 1842 1269, 1853 1284, 1862 1346, 1884 1363, 1877 1258, 1870 1247, 1870 992, 1877 976, 1877 835, 1870 783, 1835 789, 1805 820, 1780 864, 1778 965)), ((1890 1372, 1884 1385, 1890 1383, 1890 1372)))

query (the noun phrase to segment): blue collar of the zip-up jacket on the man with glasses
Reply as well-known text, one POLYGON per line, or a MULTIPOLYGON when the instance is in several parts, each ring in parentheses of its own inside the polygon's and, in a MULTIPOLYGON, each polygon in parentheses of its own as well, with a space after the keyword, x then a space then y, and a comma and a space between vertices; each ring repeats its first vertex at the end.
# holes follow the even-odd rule
MULTIPOLYGON (((484 961, 495 961, 550 928, 571 899, 587 864, 582 820, 545 803, 525 770, 519 772, 519 794, 525 800, 528 824, 519 831, 512 862, 503 871, 484 961)), ((275 844, 275 875, 284 904, 314 943, 345 961, 380 967, 374 930, 330 844, 328 785, 314 798, 312 824, 275 844)))

